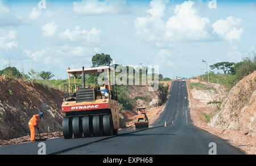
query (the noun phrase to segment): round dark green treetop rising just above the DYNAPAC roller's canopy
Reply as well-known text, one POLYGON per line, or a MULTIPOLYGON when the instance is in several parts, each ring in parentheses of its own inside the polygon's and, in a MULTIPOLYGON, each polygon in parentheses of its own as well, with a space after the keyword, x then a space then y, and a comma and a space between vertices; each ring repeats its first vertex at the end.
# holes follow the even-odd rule
POLYGON ((110 55, 104 54, 104 53, 96 54, 95 56, 92 57, 93 67, 98 67, 101 65, 109 66, 111 61, 112 61, 112 58, 110 58, 110 55))

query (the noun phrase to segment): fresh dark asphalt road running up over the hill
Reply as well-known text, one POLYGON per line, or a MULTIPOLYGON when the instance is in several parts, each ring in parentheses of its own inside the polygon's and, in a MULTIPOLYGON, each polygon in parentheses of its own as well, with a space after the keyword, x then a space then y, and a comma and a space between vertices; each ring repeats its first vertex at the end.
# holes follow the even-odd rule
MULTIPOLYGON (((188 99, 185 82, 175 81, 166 109, 151 129, 123 130, 117 137, 49 139, 44 141, 46 154, 209 154, 211 148, 216 149, 218 155, 243 154, 226 141, 193 126, 185 97, 188 99), (211 143, 216 144, 216 148, 211 143)), ((38 142, 22 143, 0 147, 0 154, 38 154, 39 148, 38 142)))

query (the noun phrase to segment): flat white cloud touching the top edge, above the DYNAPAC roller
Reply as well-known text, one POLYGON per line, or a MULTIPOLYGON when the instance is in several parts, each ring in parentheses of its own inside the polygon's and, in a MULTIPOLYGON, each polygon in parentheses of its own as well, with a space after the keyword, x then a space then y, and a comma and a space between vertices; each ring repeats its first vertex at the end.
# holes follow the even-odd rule
POLYGON ((88 0, 73 2, 73 11, 82 15, 118 14, 127 12, 126 1, 88 0))

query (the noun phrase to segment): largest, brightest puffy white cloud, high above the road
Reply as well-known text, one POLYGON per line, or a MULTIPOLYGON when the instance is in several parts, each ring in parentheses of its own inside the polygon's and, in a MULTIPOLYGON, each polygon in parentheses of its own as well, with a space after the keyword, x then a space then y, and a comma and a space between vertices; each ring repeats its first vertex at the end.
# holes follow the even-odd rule
POLYGON ((146 41, 201 41, 209 40, 210 20, 203 18, 193 5, 185 1, 174 8, 174 16, 165 23, 162 20, 168 1, 150 2, 147 12, 150 16, 138 17, 134 21, 135 33, 139 40, 146 41))

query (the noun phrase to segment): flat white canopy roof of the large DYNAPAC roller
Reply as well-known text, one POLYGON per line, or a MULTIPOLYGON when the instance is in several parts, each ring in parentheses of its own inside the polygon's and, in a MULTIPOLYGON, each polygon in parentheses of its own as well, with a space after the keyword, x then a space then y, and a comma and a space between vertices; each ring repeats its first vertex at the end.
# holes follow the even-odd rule
MULTIPOLYGON (((104 73, 104 71, 114 71, 114 68, 110 67, 110 66, 84 68, 85 74, 104 73)), ((68 68, 67 73, 72 74, 72 75, 80 75, 80 74, 82 74, 82 69, 69 69, 68 68)))

